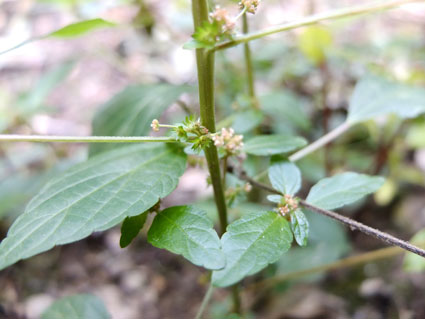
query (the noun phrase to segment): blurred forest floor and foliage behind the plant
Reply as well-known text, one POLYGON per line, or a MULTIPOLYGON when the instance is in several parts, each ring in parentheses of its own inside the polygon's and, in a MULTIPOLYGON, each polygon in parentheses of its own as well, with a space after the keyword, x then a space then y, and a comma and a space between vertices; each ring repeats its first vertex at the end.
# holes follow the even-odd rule
MULTIPOLYGON (((250 29, 368 2, 265 0, 249 16, 250 29)), ((214 3, 238 12, 235 1, 214 3)), ((0 51, 94 18, 116 25, 80 37, 32 41, 0 55, 2 134, 120 135, 102 112, 113 107, 125 114, 128 105, 146 104, 152 105, 150 117, 136 132, 146 135, 159 110, 140 92, 158 83, 173 88, 170 96, 159 96, 158 108, 167 109, 161 122, 197 114, 194 52, 182 48, 193 33, 189 0, 0 0, 0 51)), ((251 107, 246 93, 242 47, 220 51, 220 125, 245 136, 285 133, 313 141, 343 122, 353 87, 365 74, 425 86, 425 7, 412 4, 325 22, 254 41, 251 48, 259 109, 251 107)), ((425 227, 425 117, 357 125, 326 150, 299 162, 303 195, 317 180, 337 172, 382 175, 387 177, 384 187, 344 213, 406 240, 425 227)), ((98 151, 82 144, 1 143, 0 239, 50 178, 98 151)), ((190 162, 163 207, 196 202, 215 218, 204 164, 199 157, 190 162)), ((248 157, 245 163, 252 175, 266 167, 261 158, 248 157)), ((234 189, 240 183, 229 181, 234 189)), ((235 195, 231 218, 270 208, 264 195, 257 190, 235 195)), ((247 318, 425 318, 424 262, 401 254, 279 281, 267 289, 252 286, 383 247, 326 218, 308 217, 309 245, 292 248, 245 281, 247 318)), ((125 249, 119 238, 116 227, 0 272, 0 318, 39 318, 53 300, 83 292, 100 297, 117 319, 194 317, 207 273, 151 247, 145 233, 125 249)), ((208 315, 225 318, 229 307, 228 292, 216 289, 208 315)))

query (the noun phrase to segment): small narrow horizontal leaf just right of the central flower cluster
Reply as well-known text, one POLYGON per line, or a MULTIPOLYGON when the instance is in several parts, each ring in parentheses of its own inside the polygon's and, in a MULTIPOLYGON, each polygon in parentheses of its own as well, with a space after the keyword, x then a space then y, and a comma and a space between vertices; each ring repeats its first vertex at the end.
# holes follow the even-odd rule
POLYGON ((287 135, 260 135, 248 140, 244 151, 251 155, 271 156, 295 151, 307 144, 307 141, 298 136, 287 135))

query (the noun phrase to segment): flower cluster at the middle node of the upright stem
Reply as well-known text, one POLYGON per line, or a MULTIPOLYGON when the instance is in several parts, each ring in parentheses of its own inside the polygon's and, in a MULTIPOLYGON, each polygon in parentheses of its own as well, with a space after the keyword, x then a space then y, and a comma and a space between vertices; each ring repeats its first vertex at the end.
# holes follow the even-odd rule
POLYGON ((200 151, 214 142, 223 156, 239 155, 243 147, 243 136, 235 134, 232 128, 222 128, 217 133, 210 133, 199 119, 187 117, 183 123, 177 125, 160 124, 157 119, 152 121, 151 127, 159 131, 161 127, 173 129, 173 136, 183 143, 191 143, 192 149, 200 151))

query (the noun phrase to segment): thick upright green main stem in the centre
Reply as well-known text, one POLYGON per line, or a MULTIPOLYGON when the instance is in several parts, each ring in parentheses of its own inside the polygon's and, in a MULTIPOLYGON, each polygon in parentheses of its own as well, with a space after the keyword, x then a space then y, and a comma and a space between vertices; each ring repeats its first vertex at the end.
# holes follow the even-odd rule
MULTIPOLYGON (((208 1, 192 0, 192 14, 196 29, 201 26, 204 21, 208 20, 208 1)), ((214 52, 207 52, 205 49, 197 49, 196 62, 198 67, 201 123, 211 133, 214 133, 214 52)), ((220 162, 218 159, 217 148, 214 145, 208 147, 205 150, 205 157, 207 159, 211 183, 214 189, 214 199, 220 219, 221 233, 223 234, 227 227, 227 207, 221 182, 220 162)))

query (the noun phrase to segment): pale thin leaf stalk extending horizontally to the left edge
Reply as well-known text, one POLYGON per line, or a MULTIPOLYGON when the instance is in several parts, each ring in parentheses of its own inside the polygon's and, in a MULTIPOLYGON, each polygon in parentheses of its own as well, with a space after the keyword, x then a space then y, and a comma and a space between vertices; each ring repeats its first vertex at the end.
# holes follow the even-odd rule
POLYGON ((37 143, 176 143, 173 137, 161 136, 54 136, 54 135, 15 135, 0 134, 0 142, 37 143))

